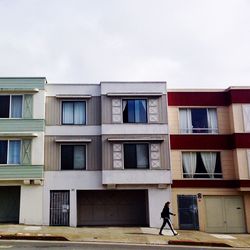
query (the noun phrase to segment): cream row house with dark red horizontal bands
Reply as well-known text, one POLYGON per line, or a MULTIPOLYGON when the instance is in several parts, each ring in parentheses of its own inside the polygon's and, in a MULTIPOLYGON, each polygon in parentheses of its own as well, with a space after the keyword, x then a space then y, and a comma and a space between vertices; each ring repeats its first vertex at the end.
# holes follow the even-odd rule
POLYGON ((250 89, 169 90, 179 229, 250 232, 250 89))

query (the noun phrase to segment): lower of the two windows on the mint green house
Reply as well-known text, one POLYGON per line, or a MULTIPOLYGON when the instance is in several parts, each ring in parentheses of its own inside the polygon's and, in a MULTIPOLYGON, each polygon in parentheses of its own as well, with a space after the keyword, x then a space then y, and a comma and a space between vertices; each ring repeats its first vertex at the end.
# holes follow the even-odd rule
POLYGON ((0 164, 20 164, 21 141, 0 141, 0 164))

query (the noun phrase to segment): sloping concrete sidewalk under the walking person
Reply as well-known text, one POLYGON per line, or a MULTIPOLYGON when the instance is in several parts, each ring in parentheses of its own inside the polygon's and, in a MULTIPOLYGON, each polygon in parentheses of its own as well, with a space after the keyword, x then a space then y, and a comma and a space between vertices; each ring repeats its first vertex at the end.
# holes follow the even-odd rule
MULTIPOLYGON (((164 230, 146 227, 49 227, 25 225, 0 225, 0 239, 69 240, 74 242, 107 242, 126 244, 166 245, 174 244, 226 244, 229 247, 250 249, 250 234, 208 234, 199 231, 177 230, 172 236, 164 230)), ((213 246, 213 245, 211 245, 213 246)))

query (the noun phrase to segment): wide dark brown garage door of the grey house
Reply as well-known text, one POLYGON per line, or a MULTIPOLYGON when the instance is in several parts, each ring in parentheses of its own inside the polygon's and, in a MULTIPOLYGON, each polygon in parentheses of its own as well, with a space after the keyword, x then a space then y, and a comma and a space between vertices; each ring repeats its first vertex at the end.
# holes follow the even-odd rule
POLYGON ((79 226, 147 226, 147 191, 77 191, 77 218, 79 226))

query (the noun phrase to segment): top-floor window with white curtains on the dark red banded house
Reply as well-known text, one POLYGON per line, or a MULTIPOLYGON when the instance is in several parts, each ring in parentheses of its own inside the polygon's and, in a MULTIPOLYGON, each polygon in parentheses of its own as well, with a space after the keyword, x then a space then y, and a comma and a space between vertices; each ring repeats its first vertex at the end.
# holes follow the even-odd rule
POLYGON ((215 108, 180 109, 181 133, 218 133, 215 108))

